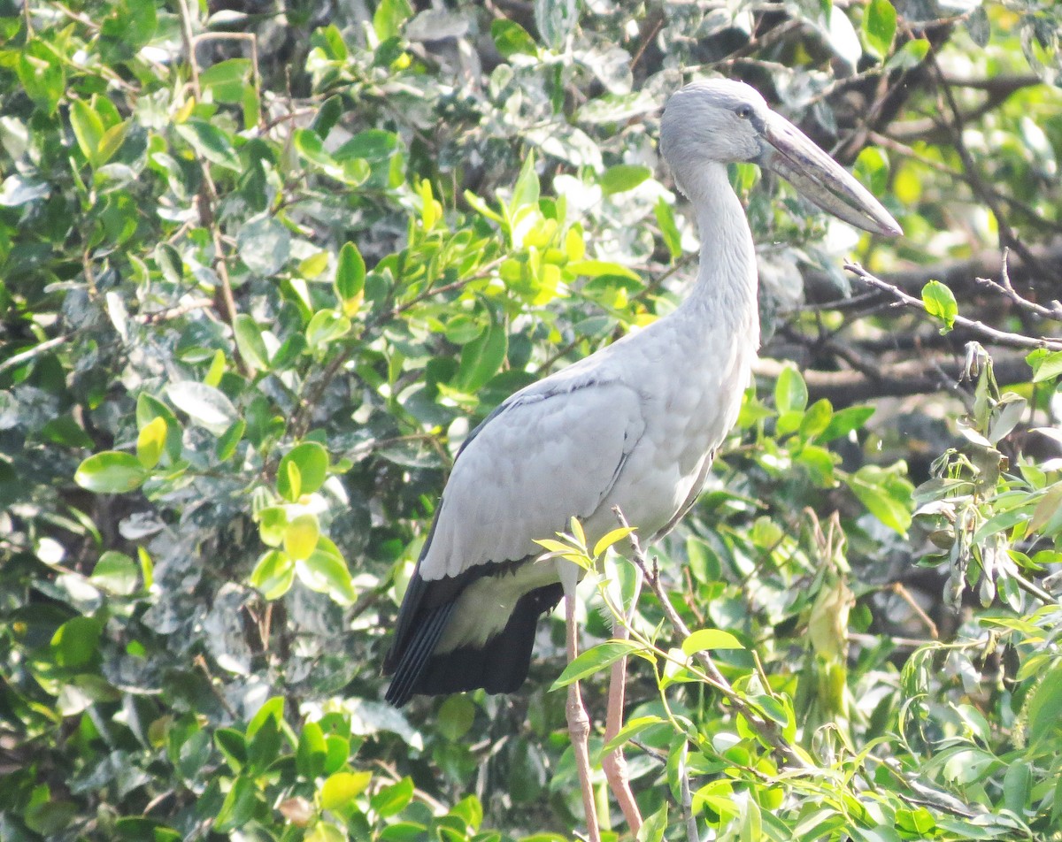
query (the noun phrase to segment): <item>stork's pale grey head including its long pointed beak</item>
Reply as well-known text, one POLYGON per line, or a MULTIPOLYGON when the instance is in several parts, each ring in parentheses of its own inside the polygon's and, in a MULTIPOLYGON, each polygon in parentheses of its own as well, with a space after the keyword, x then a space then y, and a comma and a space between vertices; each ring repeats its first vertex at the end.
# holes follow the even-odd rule
POLYGON ((751 161, 852 225, 890 237, 903 233, 859 182, 743 82, 712 79, 675 91, 661 121, 661 152, 680 186, 701 168, 751 161))

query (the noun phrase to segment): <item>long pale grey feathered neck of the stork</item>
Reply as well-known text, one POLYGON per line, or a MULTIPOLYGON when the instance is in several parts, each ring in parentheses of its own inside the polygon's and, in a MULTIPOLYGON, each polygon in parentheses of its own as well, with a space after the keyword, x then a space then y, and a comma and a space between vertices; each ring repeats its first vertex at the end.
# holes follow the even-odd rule
POLYGON ((701 237, 697 286, 682 309, 696 313, 706 327, 730 330, 735 339, 757 348, 756 252, 726 168, 721 164, 700 167, 682 184, 697 212, 701 237))

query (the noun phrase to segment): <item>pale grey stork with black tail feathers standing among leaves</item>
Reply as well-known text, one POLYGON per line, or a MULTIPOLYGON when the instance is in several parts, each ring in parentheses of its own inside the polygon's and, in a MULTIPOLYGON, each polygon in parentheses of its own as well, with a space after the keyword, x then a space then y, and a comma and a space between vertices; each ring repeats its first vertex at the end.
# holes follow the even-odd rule
MULTIPOLYGON (((696 217, 696 283, 671 313, 516 392, 466 437, 384 659, 393 705, 415 693, 515 691, 538 618, 562 598, 572 657, 582 571, 538 561, 535 540, 577 517, 593 546, 616 527, 618 506, 651 544, 696 501, 759 347, 755 248, 729 164, 771 169, 866 230, 902 233, 859 182, 742 82, 705 79, 672 93, 660 151, 696 217)), ((569 694, 570 727, 578 712, 569 694)))

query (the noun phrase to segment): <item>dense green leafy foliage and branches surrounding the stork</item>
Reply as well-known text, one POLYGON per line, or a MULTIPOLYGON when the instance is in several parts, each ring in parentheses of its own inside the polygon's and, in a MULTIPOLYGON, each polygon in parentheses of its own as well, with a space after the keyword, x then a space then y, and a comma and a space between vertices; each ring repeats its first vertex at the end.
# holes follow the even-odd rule
POLYGON ((648 557, 613 536, 653 586, 629 642, 601 641, 632 563, 542 536, 607 573, 559 686, 582 674, 600 721, 635 656, 644 839, 684 813, 1062 839, 1060 24, 1032 0, 0 6, 0 840, 583 826, 560 619, 512 697, 399 711, 379 664, 466 432, 682 298, 658 109, 714 73, 906 237, 732 169, 755 383, 683 526, 648 557))

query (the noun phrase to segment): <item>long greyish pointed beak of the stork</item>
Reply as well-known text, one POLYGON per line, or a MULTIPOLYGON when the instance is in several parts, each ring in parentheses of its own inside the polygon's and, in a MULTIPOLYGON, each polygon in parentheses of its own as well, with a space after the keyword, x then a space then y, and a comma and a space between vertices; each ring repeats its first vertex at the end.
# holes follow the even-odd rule
POLYGON ((782 175, 827 213, 874 234, 898 237, 904 233, 867 188, 784 117, 769 113, 764 137, 771 145, 759 164, 782 175))

